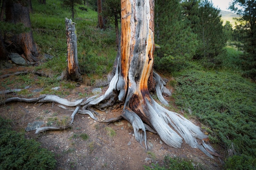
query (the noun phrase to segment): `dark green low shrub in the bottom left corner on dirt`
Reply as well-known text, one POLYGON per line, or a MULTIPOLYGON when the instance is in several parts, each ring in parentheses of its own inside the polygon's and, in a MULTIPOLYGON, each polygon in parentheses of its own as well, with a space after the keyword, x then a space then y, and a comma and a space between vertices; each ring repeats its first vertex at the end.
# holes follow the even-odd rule
POLYGON ((11 129, 10 121, 0 117, 0 169, 54 170, 54 154, 24 134, 11 129))

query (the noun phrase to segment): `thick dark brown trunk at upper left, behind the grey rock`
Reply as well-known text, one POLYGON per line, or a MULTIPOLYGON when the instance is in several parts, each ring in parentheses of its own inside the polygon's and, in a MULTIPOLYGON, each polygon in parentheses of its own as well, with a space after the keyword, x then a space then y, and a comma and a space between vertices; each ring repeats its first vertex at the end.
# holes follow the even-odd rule
MULTIPOLYGON (((6 4, 6 21, 17 24, 22 22, 25 27, 31 28, 29 9, 20 2, 8 1, 6 4)), ((35 62, 38 60, 38 51, 34 43, 32 31, 13 36, 13 44, 21 48, 25 60, 35 62)))

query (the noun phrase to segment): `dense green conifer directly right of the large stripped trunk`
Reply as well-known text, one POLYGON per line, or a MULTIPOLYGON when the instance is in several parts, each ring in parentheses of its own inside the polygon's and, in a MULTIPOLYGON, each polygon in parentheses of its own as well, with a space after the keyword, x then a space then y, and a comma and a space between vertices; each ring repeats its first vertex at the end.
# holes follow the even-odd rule
POLYGON ((155 1, 155 42, 160 46, 155 67, 170 69, 195 55, 196 35, 185 19, 179 0, 155 1))

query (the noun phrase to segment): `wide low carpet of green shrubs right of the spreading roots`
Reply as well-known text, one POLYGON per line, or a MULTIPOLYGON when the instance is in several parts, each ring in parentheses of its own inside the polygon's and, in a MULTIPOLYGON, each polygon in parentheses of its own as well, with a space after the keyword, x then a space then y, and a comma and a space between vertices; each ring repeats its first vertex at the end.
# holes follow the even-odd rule
MULTIPOLYGON (((229 155, 256 157, 256 85, 234 72, 186 69, 177 73, 175 103, 213 131, 229 155)), ((232 159, 231 159, 232 160, 232 159)), ((242 162, 242 161, 241 161, 242 162)), ((243 165, 242 165, 243 166, 243 165)))

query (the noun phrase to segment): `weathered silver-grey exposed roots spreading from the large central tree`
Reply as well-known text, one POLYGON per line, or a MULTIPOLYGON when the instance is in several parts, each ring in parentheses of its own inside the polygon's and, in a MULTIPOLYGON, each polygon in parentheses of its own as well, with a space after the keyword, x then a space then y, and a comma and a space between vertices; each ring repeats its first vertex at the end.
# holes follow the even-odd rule
MULTIPOLYGON (((90 111, 90 107, 96 107, 98 109, 112 106, 115 102, 118 101, 117 94, 118 91, 116 89, 117 82, 118 82, 118 74, 116 74, 112 81, 110 82, 109 88, 106 93, 102 96, 92 96, 88 99, 79 99, 74 102, 68 101, 64 98, 60 98, 55 95, 42 95, 38 98, 7 98, 5 103, 12 102, 12 101, 20 101, 20 102, 54 102, 59 103, 59 107, 63 109, 67 109, 65 106, 69 107, 76 107, 75 110, 70 109, 72 111, 70 125, 74 121, 74 116, 76 113, 79 114, 88 114, 92 119, 95 121, 99 121, 97 117, 90 111), (64 105, 64 106, 63 106, 64 105)), ((160 80, 156 78, 156 80, 160 80)), ((163 86, 163 83, 157 82, 156 84, 163 86)), ((159 86, 160 87, 160 86, 159 86)), ((163 88, 162 88, 163 89, 163 88)), ((161 92, 161 91, 160 91, 161 92)), ((162 94, 160 94, 162 96, 162 94)), ((159 95, 158 95, 159 96, 159 95)), ((126 101, 127 102, 127 101, 126 101)), ((129 103, 129 102, 128 102, 129 103)), ((180 148, 182 145, 182 139, 186 143, 188 143, 192 148, 199 148, 202 152, 207 154, 207 156, 213 158, 211 154, 215 154, 213 148, 210 145, 204 143, 203 139, 207 138, 207 135, 200 131, 200 128, 191 121, 185 119, 180 114, 175 112, 171 112, 166 110, 164 107, 159 105, 156 101, 153 100, 151 96, 147 96, 144 100, 140 101, 139 103, 143 103, 143 105, 137 105, 137 108, 140 112, 146 113, 147 121, 146 124, 142 121, 140 116, 137 113, 130 110, 128 107, 124 107, 122 114, 119 117, 111 118, 106 121, 99 121, 99 122, 112 122, 118 121, 120 119, 128 120, 134 129, 135 139, 141 143, 144 143, 146 146, 146 130, 157 133, 161 137, 161 139, 170 146, 175 148, 180 148), (151 126, 151 127, 150 127, 151 126), (200 144, 198 143, 197 139, 200 139, 200 144), (211 154, 210 154, 211 153, 211 154)), ((127 106, 128 104, 126 104, 127 106)), ((68 125, 65 128, 68 128, 68 125)), ((46 130, 62 130, 63 128, 59 127, 43 127, 38 128, 36 133, 43 132, 46 130)), ((216 155, 216 154, 215 154, 216 155)))

